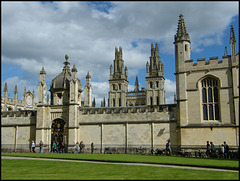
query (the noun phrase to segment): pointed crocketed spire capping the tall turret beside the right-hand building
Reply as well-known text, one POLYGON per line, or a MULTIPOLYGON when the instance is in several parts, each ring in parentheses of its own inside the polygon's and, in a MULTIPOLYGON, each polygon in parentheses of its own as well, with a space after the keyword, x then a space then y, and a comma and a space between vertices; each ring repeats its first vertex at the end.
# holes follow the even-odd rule
POLYGON ((187 33, 183 15, 180 14, 179 20, 178 20, 178 29, 177 34, 175 35, 175 42, 176 41, 190 41, 189 34, 187 33))

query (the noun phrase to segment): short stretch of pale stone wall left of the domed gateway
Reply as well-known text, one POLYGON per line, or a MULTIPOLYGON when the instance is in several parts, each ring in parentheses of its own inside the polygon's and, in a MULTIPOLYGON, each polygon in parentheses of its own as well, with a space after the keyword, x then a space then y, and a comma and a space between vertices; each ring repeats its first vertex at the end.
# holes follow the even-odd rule
POLYGON ((35 130, 36 111, 1 112, 1 151, 29 152, 35 130))

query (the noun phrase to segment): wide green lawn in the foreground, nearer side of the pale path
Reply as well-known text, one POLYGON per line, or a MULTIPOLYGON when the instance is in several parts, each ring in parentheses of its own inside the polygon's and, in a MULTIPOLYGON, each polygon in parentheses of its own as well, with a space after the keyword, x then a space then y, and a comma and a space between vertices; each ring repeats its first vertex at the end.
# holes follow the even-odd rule
POLYGON ((238 172, 43 160, 1 160, 2 180, 238 180, 238 178, 238 172))

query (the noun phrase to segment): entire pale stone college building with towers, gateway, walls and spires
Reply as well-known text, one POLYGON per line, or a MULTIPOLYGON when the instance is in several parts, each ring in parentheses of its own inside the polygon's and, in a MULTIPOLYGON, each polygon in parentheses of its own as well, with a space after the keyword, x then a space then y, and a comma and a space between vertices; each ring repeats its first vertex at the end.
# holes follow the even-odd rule
MULTIPOLYGON (((230 30, 231 55, 225 50, 222 60, 191 59, 191 41, 183 16, 179 16, 174 37, 176 103, 166 104, 164 67, 158 45, 151 45, 150 63, 146 63, 146 88, 128 91, 127 67, 122 48, 115 48, 110 66, 108 107, 94 107, 91 76, 86 76, 84 101, 77 68, 70 69, 68 55, 62 72, 51 82, 51 101, 46 95, 46 71, 40 71, 38 102, 32 110, 7 110, 7 86, 4 88, 1 114, 2 150, 28 151, 29 143, 44 142, 49 152, 53 141, 63 143, 66 151, 83 141, 86 148, 95 144, 96 152, 114 147, 121 153, 135 148, 164 148, 171 140, 172 149, 205 149, 206 141, 215 145, 226 141, 239 146, 239 53, 235 51, 234 29, 230 30), (93 102, 92 102, 93 101, 93 102), (4 107, 4 109, 3 109, 4 107)), ((30 95, 30 93, 28 94, 30 95)), ((24 98, 27 97, 27 93, 24 98)), ((34 96, 33 96, 34 97, 34 96)), ((17 105, 17 98, 15 97, 17 105)), ((23 104, 25 105, 25 104, 23 104)), ((13 106, 14 107, 14 106, 13 106)))

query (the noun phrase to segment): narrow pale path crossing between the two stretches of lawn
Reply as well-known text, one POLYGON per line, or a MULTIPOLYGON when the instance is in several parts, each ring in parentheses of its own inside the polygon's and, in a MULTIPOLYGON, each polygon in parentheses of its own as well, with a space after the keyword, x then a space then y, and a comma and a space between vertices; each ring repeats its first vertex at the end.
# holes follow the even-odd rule
POLYGON ((24 160, 46 160, 46 161, 61 161, 61 162, 77 162, 77 163, 97 163, 97 164, 116 164, 116 165, 134 165, 134 166, 148 166, 148 167, 169 167, 180 169, 192 170, 209 170, 221 172, 239 172, 238 170, 229 170, 221 168, 205 168, 205 167, 191 167, 191 166, 178 166, 178 165, 165 165, 165 164, 150 164, 150 163, 126 163, 126 162, 105 162, 105 161, 86 161, 86 160, 69 160, 69 159, 53 159, 53 158, 30 158, 30 157, 11 157, 1 156, 2 159, 24 159, 24 160))

